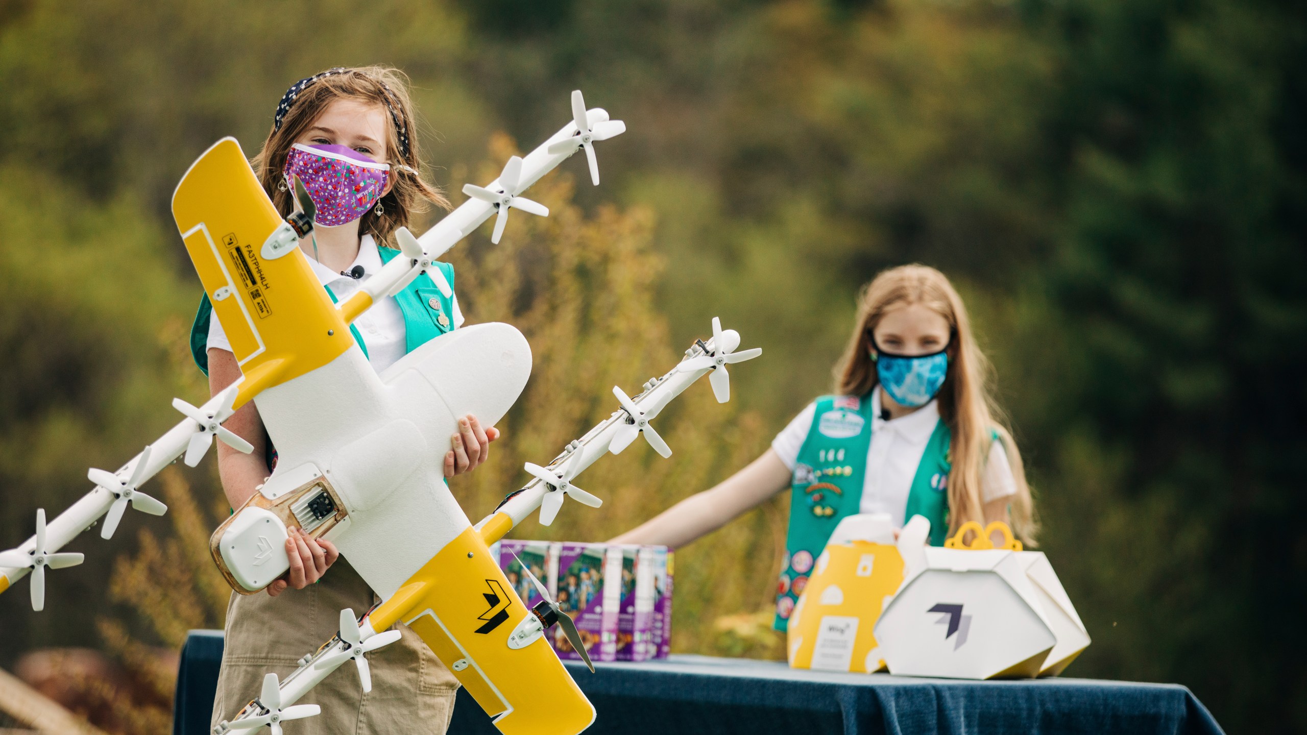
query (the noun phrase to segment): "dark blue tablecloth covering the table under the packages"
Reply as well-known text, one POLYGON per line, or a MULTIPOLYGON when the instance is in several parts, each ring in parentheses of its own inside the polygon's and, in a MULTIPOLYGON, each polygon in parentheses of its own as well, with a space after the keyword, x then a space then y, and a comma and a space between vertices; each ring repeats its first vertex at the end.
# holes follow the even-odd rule
MULTIPOLYGON (((182 650, 174 735, 208 732, 221 659, 220 630, 191 633, 182 650)), ((915 679, 695 655, 600 663, 596 674, 572 662, 567 668, 599 711, 587 731, 596 734, 1221 732, 1206 708, 1178 684, 915 679)), ((498 731, 460 689, 450 732, 498 731)))

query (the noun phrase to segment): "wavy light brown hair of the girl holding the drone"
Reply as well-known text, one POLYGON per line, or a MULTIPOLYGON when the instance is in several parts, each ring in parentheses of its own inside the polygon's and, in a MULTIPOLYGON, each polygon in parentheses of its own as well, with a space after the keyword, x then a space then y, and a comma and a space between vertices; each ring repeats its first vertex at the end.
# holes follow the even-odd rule
POLYGON ((374 103, 382 109, 386 120, 386 162, 391 165, 391 191, 380 199, 383 213, 371 208, 359 221, 359 234, 370 234, 376 245, 389 242, 391 233, 408 226, 412 216, 426 211, 434 204, 442 209, 450 208, 450 200, 435 184, 422 179, 422 156, 418 146, 417 129, 413 120, 413 102, 408 92, 408 76, 391 67, 354 67, 322 77, 305 88, 281 120, 281 127, 268 132, 263 149, 254 157, 251 165, 259 177, 259 183, 272 197, 273 205, 285 217, 294 207, 290 191, 284 191, 286 156, 305 129, 318 120, 323 110, 337 99, 357 99, 374 103), (400 153, 399 132, 389 110, 395 110, 400 123, 408 131, 408 156, 400 153), (412 171, 400 169, 408 166, 412 171))

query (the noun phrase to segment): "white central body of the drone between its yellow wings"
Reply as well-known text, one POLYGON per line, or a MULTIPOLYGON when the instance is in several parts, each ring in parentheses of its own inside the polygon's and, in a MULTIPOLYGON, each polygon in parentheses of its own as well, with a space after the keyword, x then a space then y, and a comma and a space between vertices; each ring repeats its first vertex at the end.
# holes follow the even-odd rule
MULTIPOLYGON (((353 347, 255 398, 277 449, 276 471, 261 493, 276 500, 311 466, 345 506, 346 521, 328 538, 388 598, 471 527, 443 475, 459 419, 472 413, 493 425, 529 374, 531 348, 507 324, 437 337, 383 375, 353 347)), ((268 539, 273 556, 261 565, 260 589, 288 568, 285 530, 277 534, 268 539)))

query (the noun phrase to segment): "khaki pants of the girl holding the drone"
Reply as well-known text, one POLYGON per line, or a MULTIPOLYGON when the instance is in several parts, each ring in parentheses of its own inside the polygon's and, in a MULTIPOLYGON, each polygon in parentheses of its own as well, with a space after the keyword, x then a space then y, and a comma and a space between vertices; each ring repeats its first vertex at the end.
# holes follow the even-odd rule
MULTIPOLYGON (((276 598, 233 592, 210 725, 231 719, 257 697, 269 671, 285 677, 301 657, 335 636, 341 609, 362 616, 375 599, 344 557, 303 590, 276 598)), ((357 664, 345 662, 298 702, 320 705, 322 714, 286 722, 286 735, 443 735, 459 683, 416 633, 397 628, 403 638, 367 654, 370 693, 363 693, 357 664)))

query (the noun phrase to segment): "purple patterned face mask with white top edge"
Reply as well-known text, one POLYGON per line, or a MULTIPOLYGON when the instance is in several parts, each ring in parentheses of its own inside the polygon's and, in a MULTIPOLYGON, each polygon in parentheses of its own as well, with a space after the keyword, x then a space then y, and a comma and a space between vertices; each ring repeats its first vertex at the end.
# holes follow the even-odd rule
POLYGON ((391 167, 344 145, 294 144, 286 182, 305 182, 316 212, 314 222, 335 228, 362 217, 386 191, 391 167))

